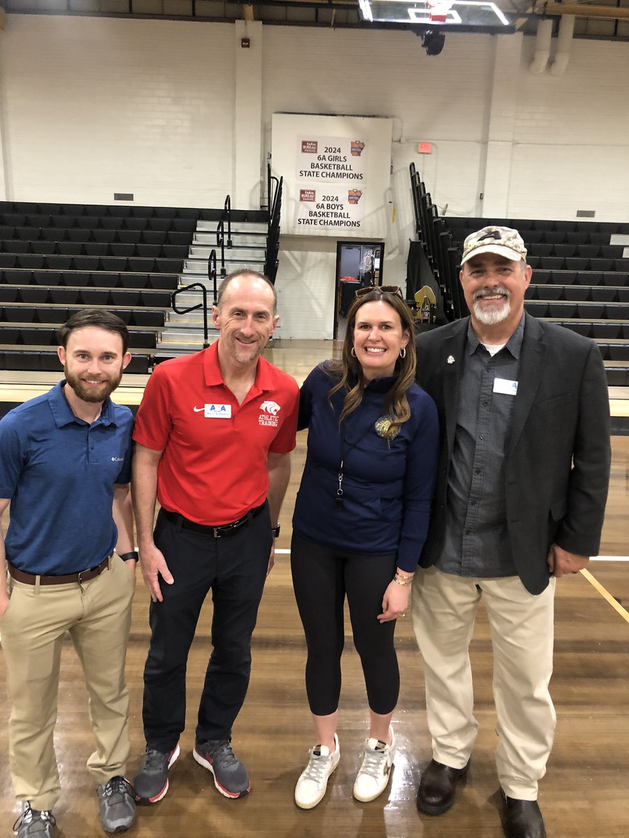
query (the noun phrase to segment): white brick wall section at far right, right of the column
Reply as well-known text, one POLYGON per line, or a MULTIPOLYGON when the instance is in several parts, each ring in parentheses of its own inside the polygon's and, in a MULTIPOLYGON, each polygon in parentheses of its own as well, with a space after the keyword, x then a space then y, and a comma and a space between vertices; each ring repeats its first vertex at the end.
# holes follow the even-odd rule
POLYGON ((629 220, 629 44, 574 40, 559 76, 529 73, 532 55, 525 39, 508 215, 629 220))

